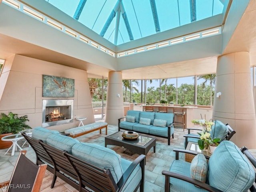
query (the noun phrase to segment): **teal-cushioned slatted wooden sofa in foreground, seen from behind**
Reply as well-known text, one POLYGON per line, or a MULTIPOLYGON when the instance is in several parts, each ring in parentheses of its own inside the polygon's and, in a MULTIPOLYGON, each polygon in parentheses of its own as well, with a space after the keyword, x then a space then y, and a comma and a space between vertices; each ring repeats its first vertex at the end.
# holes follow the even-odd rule
POLYGON ((42 127, 34 128, 31 137, 22 135, 36 153, 36 164, 46 163, 54 174, 51 188, 60 177, 79 191, 144 191, 144 155, 130 162, 104 146, 42 127))

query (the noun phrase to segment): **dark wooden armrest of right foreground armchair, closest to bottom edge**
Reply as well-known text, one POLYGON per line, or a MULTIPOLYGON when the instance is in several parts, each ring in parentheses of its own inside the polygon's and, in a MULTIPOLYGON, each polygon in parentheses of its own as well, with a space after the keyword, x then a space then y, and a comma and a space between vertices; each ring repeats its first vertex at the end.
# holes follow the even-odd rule
POLYGON ((165 192, 169 192, 170 191, 170 177, 173 177, 173 178, 177 178, 177 179, 180 179, 180 180, 183 180, 183 181, 186 181, 186 182, 189 182, 189 183, 192 183, 200 188, 203 188, 207 191, 210 191, 210 192, 221 192, 220 190, 206 184, 206 183, 203 183, 203 182, 200 182, 196 179, 193 179, 191 177, 188 177, 188 176, 184 176, 182 174, 178 174, 178 173, 174 173, 174 172, 170 172, 170 171, 162 171, 162 174, 165 176, 165 192))

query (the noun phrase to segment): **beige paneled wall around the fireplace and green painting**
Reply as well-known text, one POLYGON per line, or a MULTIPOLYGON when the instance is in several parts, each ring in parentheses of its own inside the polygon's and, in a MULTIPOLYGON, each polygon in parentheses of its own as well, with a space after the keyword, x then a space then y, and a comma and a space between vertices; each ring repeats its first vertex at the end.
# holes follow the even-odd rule
POLYGON ((12 111, 19 115, 28 115, 28 124, 34 128, 42 126, 42 100, 74 99, 74 121, 51 130, 64 130, 76 127, 76 117, 85 116, 84 124, 94 122, 87 72, 60 64, 34 58, 15 55, 6 60, 6 66, 0 77, 0 112, 12 111), (51 75, 75 80, 74 97, 42 97, 42 75, 51 75))

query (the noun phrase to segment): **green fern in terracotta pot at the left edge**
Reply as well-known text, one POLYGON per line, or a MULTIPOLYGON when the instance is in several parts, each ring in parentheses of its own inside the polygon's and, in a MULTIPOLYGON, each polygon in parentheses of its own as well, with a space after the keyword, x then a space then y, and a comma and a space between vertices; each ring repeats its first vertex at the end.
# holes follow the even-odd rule
POLYGON ((0 113, 0 149, 8 148, 12 145, 12 142, 2 141, 2 137, 10 134, 17 134, 22 130, 31 129, 29 125, 26 124, 28 116, 20 116, 9 112, 8 115, 5 113, 0 113))

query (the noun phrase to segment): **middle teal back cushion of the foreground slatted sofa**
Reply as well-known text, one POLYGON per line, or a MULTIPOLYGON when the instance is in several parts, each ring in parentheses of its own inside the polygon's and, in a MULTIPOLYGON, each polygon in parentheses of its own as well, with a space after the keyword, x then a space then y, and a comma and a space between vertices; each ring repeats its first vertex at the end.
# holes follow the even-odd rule
POLYGON ((78 142, 76 139, 60 134, 52 134, 46 139, 46 144, 61 151, 66 150, 70 154, 72 154, 72 146, 78 142))

